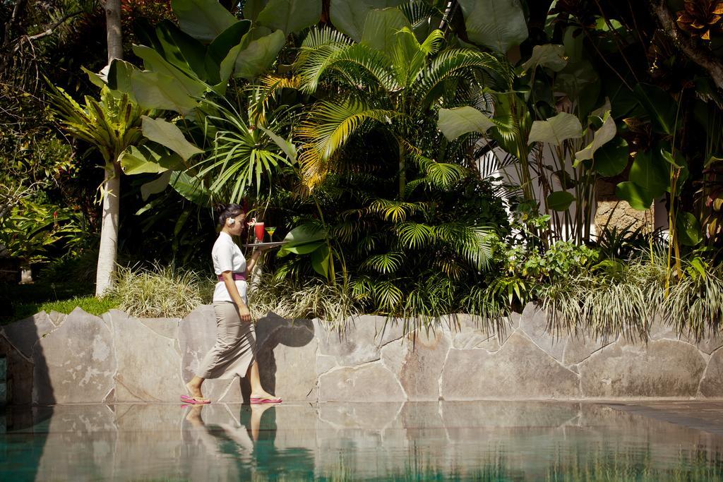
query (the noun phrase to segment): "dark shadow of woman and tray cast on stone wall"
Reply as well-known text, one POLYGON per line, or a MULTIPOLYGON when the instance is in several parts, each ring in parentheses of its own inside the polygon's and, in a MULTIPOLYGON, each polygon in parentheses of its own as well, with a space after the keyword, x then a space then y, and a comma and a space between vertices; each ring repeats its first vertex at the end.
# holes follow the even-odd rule
MULTIPOLYGON (((300 348, 314 340, 314 323, 309 319, 289 321, 275 313, 269 313, 256 325, 257 360, 261 384, 267 392, 276 393, 276 358, 278 345, 300 348)), ((299 369, 315 370, 314 366, 299 369)), ((244 403, 249 403, 251 385, 247 378, 241 379, 244 403)))

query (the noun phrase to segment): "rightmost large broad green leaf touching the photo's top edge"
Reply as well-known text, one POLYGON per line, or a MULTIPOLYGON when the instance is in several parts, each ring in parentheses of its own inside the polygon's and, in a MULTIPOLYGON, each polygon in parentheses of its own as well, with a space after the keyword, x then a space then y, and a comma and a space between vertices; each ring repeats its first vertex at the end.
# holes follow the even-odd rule
POLYGON ((527 38, 527 22, 519 0, 459 0, 467 38, 506 53, 527 38))

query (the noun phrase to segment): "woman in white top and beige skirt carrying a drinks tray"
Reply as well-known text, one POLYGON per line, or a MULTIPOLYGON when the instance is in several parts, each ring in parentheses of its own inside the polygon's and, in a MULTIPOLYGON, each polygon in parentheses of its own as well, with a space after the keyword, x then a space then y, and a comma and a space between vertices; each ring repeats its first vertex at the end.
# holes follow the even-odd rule
POLYGON ((190 397, 181 395, 186 403, 210 403, 201 392, 205 379, 229 379, 248 376, 251 382, 251 403, 280 403, 261 386, 259 366, 256 361, 256 332, 251 321, 247 298, 246 274, 252 272, 261 255, 254 250, 247 262, 231 236, 239 236, 244 230, 246 213, 236 204, 218 208, 218 233, 213 245, 213 270, 218 275, 213 291, 213 311, 216 316, 218 335, 216 343, 203 358, 196 376, 186 384, 190 397))

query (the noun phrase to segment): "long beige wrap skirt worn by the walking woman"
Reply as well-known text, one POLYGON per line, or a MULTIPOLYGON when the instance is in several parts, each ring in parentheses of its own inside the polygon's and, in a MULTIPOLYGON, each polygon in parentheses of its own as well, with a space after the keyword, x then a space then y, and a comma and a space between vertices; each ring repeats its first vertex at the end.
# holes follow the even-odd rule
POLYGON ((246 376, 256 354, 254 324, 242 322, 231 301, 215 301, 216 343, 201 361, 196 372, 201 378, 229 379, 246 376))

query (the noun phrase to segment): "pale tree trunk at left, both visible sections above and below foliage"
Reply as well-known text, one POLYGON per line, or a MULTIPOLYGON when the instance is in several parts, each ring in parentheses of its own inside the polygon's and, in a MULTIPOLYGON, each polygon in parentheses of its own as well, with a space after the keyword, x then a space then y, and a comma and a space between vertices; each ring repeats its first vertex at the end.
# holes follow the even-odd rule
MULTIPOLYGON (((121 0, 106 0, 106 32, 108 65, 123 58, 121 34, 121 0)), ((118 221, 121 205, 121 168, 117 156, 106 160, 106 180, 103 184, 103 223, 100 226, 98 270, 95 274, 95 296, 103 296, 113 286, 118 248, 118 221)))

